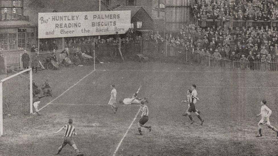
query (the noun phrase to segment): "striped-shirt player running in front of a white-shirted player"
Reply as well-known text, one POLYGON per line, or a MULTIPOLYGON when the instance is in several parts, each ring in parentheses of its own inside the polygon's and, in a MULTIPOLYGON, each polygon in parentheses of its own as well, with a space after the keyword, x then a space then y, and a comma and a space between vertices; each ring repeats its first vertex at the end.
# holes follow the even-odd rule
POLYGON ((201 125, 203 125, 204 120, 201 118, 200 114, 197 112, 197 110, 195 109, 195 104, 193 103, 194 99, 197 99, 198 101, 200 101, 200 99, 198 97, 196 97, 195 95, 192 94, 192 90, 187 90, 187 100, 185 101, 181 101, 181 102, 188 102, 189 103, 189 107, 186 111, 186 113, 183 116, 187 116, 189 117, 189 119, 191 120, 190 124, 194 123, 193 118, 191 117, 191 112, 194 112, 197 117, 201 120, 201 125))

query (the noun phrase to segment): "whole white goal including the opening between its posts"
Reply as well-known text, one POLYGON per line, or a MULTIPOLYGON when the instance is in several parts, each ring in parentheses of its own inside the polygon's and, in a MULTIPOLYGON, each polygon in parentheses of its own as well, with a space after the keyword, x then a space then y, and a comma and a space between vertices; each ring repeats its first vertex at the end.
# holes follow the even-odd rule
POLYGON ((0 136, 3 135, 3 115, 33 113, 32 88, 32 68, 0 81, 0 136))

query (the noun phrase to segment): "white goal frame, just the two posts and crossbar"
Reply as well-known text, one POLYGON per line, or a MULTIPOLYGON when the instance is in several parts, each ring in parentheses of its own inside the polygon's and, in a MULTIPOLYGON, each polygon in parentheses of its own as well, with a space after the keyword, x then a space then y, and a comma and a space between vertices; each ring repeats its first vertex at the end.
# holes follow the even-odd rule
MULTIPOLYGON (((14 78, 15 76, 23 76, 22 74, 29 73, 29 95, 30 95, 30 113, 33 113, 33 83, 32 83, 32 68, 25 69, 21 72, 8 76, 0 81, 0 136, 3 135, 3 82, 14 78)), ((25 76, 24 76, 25 77, 25 76)), ((25 77, 27 78, 27 77, 25 77)), ((26 86, 27 87, 27 86, 26 86)))

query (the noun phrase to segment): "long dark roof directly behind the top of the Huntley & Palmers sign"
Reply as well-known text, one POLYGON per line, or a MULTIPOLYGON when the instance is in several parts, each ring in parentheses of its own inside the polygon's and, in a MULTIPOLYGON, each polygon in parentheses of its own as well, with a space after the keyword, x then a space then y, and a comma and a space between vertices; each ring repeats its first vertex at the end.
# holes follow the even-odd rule
MULTIPOLYGON (((47 8, 57 12, 98 11, 98 0, 31 0, 28 8, 47 8)), ((109 8, 101 3, 104 11, 109 8)))

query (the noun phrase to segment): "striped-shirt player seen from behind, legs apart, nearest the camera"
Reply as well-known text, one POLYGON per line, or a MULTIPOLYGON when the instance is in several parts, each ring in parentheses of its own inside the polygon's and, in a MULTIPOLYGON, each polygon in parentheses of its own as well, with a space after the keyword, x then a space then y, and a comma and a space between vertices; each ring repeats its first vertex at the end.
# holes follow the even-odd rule
POLYGON ((65 134, 64 134, 64 141, 62 143, 62 145, 58 148, 58 152, 56 153, 56 155, 58 155, 61 150, 63 149, 63 147, 65 147, 67 144, 69 144, 70 146, 72 146, 76 152, 77 155, 83 155, 79 152, 78 148, 76 147, 73 139, 71 138, 71 136, 74 134, 74 135, 77 135, 76 133, 76 130, 75 130, 75 127, 72 126, 72 122, 73 120, 72 119, 69 119, 69 122, 68 124, 66 124, 65 126, 63 126, 60 130, 58 130, 57 132, 55 133, 59 133, 60 131, 62 130, 65 130, 65 134))

